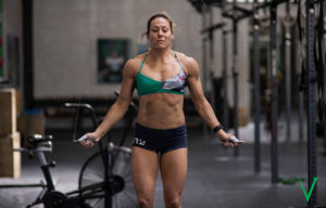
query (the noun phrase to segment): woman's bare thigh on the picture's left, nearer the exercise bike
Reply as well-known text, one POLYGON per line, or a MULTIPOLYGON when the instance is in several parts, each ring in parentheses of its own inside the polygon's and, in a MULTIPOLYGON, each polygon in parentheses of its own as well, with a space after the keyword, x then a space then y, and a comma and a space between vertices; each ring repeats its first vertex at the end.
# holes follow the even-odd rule
POLYGON ((153 200, 159 172, 159 155, 141 147, 133 147, 131 172, 139 197, 153 200))

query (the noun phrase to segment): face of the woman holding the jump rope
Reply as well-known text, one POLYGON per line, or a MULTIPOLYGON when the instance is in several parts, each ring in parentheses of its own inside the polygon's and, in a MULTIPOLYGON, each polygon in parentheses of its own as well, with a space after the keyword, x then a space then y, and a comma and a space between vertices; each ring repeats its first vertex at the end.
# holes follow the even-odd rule
POLYGON ((152 49, 166 49, 171 47, 174 34, 171 30, 170 22, 163 17, 154 18, 150 24, 147 39, 152 49))

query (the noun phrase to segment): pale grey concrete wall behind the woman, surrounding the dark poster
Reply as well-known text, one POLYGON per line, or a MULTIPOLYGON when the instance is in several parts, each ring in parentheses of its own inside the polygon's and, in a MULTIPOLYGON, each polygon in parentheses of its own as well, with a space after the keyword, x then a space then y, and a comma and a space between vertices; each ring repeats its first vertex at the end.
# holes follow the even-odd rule
POLYGON ((36 99, 113 96, 118 84, 97 83, 97 40, 129 39, 135 56, 147 20, 160 11, 177 24, 174 49, 201 65, 201 15, 187 0, 35 0, 36 99))

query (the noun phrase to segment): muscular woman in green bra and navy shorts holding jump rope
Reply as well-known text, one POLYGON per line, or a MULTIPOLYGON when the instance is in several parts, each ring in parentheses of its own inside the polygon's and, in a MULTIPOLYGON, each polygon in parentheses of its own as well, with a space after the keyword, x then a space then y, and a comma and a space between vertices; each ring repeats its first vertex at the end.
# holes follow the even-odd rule
POLYGON ((173 22, 159 13, 148 21, 147 39, 150 51, 129 60, 123 69, 121 93, 103 122, 88 140, 92 146, 128 109, 135 88, 139 95, 139 113, 133 143, 133 181, 140 208, 152 208, 159 169, 161 170, 164 203, 180 208, 180 195, 187 176, 187 135, 183 110, 186 83, 191 100, 203 120, 225 146, 236 146, 226 133, 203 95, 197 62, 171 49, 174 39, 173 22))

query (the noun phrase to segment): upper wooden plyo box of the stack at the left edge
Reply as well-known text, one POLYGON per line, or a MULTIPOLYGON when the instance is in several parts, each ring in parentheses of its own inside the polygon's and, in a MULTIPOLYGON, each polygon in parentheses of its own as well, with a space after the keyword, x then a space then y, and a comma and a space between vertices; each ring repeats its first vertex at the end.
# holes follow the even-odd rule
POLYGON ((16 90, 0 90, 0 136, 13 134, 16 127, 16 90))

